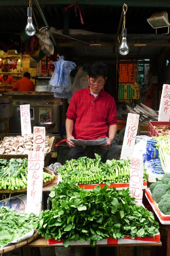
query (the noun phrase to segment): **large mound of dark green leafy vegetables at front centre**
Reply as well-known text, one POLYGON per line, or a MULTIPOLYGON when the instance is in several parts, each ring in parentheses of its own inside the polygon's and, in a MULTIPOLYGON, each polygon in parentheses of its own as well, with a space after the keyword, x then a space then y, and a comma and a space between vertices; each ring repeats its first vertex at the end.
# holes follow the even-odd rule
POLYGON ((79 188, 71 181, 60 182, 50 195, 52 210, 40 214, 39 233, 47 239, 70 241, 155 236, 159 224, 152 212, 136 206, 129 189, 116 191, 100 186, 93 190, 79 188))

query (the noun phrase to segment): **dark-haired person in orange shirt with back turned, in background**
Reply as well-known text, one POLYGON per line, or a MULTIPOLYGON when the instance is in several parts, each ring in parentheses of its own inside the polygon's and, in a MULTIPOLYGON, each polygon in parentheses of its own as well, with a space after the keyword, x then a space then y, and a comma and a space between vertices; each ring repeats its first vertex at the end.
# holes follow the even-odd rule
POLYGON ((16 84, 13 86, 12 91, 17 91, 17 92, 30 92, 34 91, 35 85, 34 83, 30 80, 31 75, 29 72, 24 73, 24 78, 21 80, 18 80, 16 84))

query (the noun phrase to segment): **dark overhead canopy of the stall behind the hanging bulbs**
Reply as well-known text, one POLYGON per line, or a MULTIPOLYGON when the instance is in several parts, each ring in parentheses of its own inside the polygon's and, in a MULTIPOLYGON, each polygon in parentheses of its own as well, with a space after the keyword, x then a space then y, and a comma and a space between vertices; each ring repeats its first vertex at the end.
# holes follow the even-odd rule
MULTIPOLYGON (((115 38, 124 2, 117 0, 76 0, 82 13, 84 25, 81 24, 78 10, 77 17, 75 16, 74 6, 66 12, 63 9, 74 3, 74 0, 38 0, 38 2, 49 27, 55 27, 56 30, 63 29, 65 34, 69 34, 69 28, 92 32, 88 35, 77 34, 71 35, 71 37, 87 43, 101 44, 100 47, 89 46, 53 34, 61 54, 69 58, 79 57, 81 59, 117 58, 115 50, 118 48, 118 43, 115 45, 115 38)), ((17 37, 20 40, 20 33, 24 31, 27 22, 28 4, 28 0, 0 1, 1 39, 17 37), (15 35, 14 37, 13 33, 18 34, 18 36, 15 35)), ((155 30, 147 23, 147 18, 150 18, 154 12, 160 11, 167 11, 170 16, 170 1, 164 0, 160 3, 160 0, 129 0, 126 4, 128 5, 126 14, 127 39, 130 47, 128 58, 157 58, 162 53, 168 56, 170 35, 155 35, 155 30)), ((32 0, 32 5, 38 27, 41 28, 44 26, 44 22, 34 0, 32 0)), ((36 25, 35 20, 33 22, 36 25)), ((118 57, 120 56, 118 55, 118 57)))

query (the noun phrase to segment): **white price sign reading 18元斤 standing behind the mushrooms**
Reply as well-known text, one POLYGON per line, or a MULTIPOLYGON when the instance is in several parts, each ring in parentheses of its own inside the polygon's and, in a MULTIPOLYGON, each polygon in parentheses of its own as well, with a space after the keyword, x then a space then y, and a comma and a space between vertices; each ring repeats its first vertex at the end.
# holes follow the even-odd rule
POLYGON ((20 105, 21 133, 31 134, 30 105, 20 105))

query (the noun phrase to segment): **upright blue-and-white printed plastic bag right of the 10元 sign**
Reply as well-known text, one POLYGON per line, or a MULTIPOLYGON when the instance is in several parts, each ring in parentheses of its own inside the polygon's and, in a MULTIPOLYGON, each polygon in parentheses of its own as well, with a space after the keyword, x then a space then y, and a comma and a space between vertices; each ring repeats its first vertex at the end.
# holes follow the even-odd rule
POLYGON ((146 156, 147 161, 151 159, 158 159, 158 150, 156 149, 156 140, 151 137, 146 143, 146 156))

